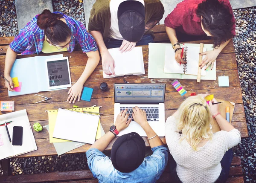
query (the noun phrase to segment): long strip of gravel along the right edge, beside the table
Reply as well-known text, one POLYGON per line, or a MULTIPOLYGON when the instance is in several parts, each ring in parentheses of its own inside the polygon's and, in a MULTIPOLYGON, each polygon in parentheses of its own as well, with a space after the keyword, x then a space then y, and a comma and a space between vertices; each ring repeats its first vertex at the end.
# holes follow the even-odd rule
POLYGON ((249 137, 234 148, 241 157, 244 181, 256 182, 256 7, 234 10, 236 38, 233 38, 249 137))

